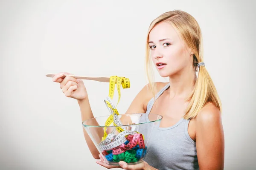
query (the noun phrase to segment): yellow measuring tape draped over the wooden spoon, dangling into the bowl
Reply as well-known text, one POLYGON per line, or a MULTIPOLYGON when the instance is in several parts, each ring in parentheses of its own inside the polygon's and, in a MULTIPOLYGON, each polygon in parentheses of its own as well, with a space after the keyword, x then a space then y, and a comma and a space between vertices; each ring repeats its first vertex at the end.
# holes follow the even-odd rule
MULTIPOLYGON (((116 104, 116 107, 120 101, 120 98, 121 98, 121 85, 122 85, 122 88, 130 88, 130 80, 128 78, 125 78, 125 77, 117 77, 117 76, 111 76, 110 77, 110 80, 109 80, 109 94, 108 96, 113 99, 113 96, 114 96, 114 91, 115 91, 115 85, 116 85, 116 88, 117 88, 117 91, 118 91, 118 101, 117 101, 117 104, 116 104)), ((108 102, 108 101, 105 101, 108 108, 110 108, 112 111, 113 111, 113 114, 116 113, 116 115, 119 115, 116 107, 113 108, 111 106, 111 103, 108 102)), ((113 123, 114 126, 117 126, 114 122, 113 122, 113 114, 111 114, 111 116, 108 117, 108 119, 106 120, 105 122, 105 126, 109 126, 111 125, 111 123, 113 123)), ((104 127, 104 135, 102 137, 102 141, 106 139, 106 137, 108 136, 107 132, 106 132, 106 129, 107 127, 104 127)), ((124 131, 121 127, 116 127, 116 130, 119 131, 119 132, 122 132, 124 131)))

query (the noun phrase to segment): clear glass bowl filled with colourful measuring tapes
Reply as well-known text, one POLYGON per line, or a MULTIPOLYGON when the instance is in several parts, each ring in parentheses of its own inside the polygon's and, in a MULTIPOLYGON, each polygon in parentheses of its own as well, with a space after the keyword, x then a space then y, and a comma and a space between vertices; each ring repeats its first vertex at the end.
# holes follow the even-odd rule
POLYGON ((82 125, 107 164, 138 164, 144 161, 162 119, 152 113, 113 114, 84 120, 82 125))

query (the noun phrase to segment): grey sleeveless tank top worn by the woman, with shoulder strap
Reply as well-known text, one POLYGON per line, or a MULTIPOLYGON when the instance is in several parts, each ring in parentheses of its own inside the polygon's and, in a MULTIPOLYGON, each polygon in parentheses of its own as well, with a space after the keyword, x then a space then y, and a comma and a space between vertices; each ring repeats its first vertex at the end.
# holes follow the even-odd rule
MULTIPOLYGON (((167 84, 156 95, 156 99, 169 88, 167 84)), ((149 121, 148 114, 154 104, 152 98, 147 105, 145 115, 141 117, 149 121)), ((145 161, 158 170, 199 170, 195 142, 188 133, 189 120, 181 118, 171 127, 159 127, 148 143, 145 161)))

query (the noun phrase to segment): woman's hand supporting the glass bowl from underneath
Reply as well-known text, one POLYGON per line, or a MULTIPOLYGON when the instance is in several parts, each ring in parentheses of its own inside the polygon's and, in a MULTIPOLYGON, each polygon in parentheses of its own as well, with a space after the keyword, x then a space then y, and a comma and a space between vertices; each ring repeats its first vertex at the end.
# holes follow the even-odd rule
POLYGON ((101 155, 99 155, 99 158, 100 158, 100 161, 96 161, 97 164, 103 166, 103 167, 106 167, 108 169, 111 169, 111 168, 122 168, 122 169, 125 169, 125 170, 145 170, 148 165, 147 162, 143 161, 139 164, 134 164, 134 165, 128 165, 125 161, 119 161, 119 165, 109 165, 109 164, 106 164, 104 159, 102 158, 101 155))

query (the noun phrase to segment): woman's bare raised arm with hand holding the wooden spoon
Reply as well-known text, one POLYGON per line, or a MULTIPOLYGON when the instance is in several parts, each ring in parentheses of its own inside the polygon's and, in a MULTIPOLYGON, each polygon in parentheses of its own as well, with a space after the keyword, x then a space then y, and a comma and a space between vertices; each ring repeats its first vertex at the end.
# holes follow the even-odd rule
MULTIPOLYGON (((69 73, 67 72, 59 73, 52 78, 52 81, 60 83, 60 88, 62 89, 62 92, 65 94, 65 96, 77 99, 79 103, 80 111, 81 111, 82 121, 94 118, 93 112, 90 107, 89 99, 87 96, 87 90, 84 86, 83 81, 70 76, 65 77, 63 76, 63 74, 69 74, 69 73)), ((131 103, 126 113, 144 113, 145 112, 144 104, 145 104, 145 101, 148 99, 147 94, 148 94, 147 87, 145 86, 139 92, 139 94, 137 94, 137 96, 131 103)), ((90 123, 93 123, 93 125, 98 125, 96 121, 90 122, 90 123)), ((96 131, 93 132, 93 134, 96 134, 96 135, 98 134, 98 136, 103 136, 102 128, 97 128, 95 130, 96 131)), ((97 150, 96 146, 94 145, 94 143, 90 139, 90 136, 87 134, 84 128, 83 128, 83 133, 84 133, 84 138, 89 147, 89 150, 93 155, 93 158, 99 159, 99 151, 97 150)))

